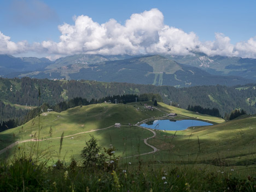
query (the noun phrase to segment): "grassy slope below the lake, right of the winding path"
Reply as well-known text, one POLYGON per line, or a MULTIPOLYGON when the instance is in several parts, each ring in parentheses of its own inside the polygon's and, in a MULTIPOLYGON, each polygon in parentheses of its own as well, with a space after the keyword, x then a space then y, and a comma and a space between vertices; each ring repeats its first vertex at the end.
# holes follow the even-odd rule
POLYGON ((163 164, 200 165, 211 170, 251 174, 256 171, 256 116, 185 131, 157 131, 149 141, 162 149, 155 160, 163 164))

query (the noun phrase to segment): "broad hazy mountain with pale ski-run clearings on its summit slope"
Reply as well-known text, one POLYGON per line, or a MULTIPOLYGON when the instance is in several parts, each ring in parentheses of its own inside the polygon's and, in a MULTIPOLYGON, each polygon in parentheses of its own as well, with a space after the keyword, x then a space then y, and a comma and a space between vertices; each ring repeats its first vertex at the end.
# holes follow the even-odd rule
POLYGON ((94 55, 83 59, 69 56, 56 60, 45 71, 22 74, 32 78, 87 79, 101 82, 126 82, 136 84, 170 85, 188 87, 196 85, 226 85, 255 83, 255 80, 238 76, 212 75, 200 68, 181 65, 160 55, 133 57, 109 61, 94 55), (73 59, 71 61, 71 59, 73 59))

